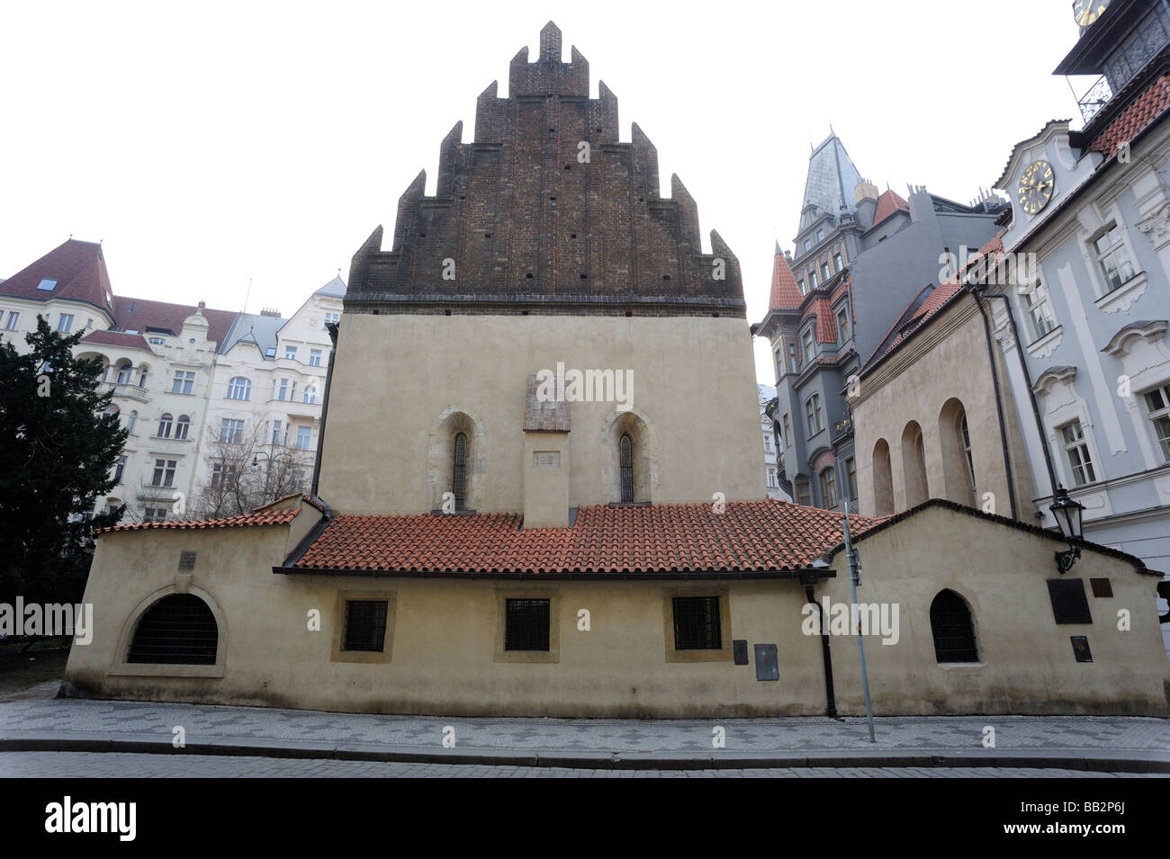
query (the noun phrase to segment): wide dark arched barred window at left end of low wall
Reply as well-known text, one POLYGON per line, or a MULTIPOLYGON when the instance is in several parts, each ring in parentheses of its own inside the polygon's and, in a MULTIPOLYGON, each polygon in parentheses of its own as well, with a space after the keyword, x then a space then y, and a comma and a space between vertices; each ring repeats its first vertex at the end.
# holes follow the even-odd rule
POLYGON ((202 600, 172 594, 151 605, 138 621, 128 663, 214 665, 219 625, 202 600))

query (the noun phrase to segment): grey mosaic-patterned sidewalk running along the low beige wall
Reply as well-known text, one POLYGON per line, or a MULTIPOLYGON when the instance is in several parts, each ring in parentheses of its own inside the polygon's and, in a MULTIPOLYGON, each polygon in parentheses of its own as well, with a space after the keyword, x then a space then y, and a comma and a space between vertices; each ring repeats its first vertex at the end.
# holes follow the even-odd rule
MULTIPOLYGON (((28 697, 0 701, 0 739, 81 736, 187 743, 266 742, 308 748, 393 747, 433 750, 445 735, 457 749, 542 753, 710 754, 722 728, 725 751, 984 750, 1170 753, 1170 720, 1126 716, 887 716, 875 744, 866 720, 785 719, 611 720, 394 716, 191 704, 28 697), (445 730, 445 729, 452 730, 445 730)), ((449 742, 449 740, 448 740, 449 742)))

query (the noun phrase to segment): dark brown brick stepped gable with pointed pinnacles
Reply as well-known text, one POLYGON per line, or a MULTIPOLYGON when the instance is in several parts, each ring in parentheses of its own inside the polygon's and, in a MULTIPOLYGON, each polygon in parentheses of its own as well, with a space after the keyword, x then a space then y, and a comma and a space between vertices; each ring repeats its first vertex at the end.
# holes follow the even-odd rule
POLYGON ((694 199, 676 175, 660 195, 654 145, 636 124, 618 141, 617 97, 604 82, 589 97, 589 62, 576 48, 560 62, 551 21, 539 60, 525 47, 511 61, 508 90, 480 96, 474 143, 461 122, 447 134, 435 196, 426 171, 406 189, 393 249, 378 227, 358 250, 346 312, 745 317, 735 255, 714 230, 702 254, 694 199))

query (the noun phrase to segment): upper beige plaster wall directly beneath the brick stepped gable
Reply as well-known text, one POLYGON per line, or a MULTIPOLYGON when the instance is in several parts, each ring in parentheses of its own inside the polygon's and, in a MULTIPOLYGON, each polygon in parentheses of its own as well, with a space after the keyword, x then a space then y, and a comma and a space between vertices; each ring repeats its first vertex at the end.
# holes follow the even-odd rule
MULTIPOLYGON (((441 424, 453 411, 476 431, 468 506, 522 511, 528 375, 558 361, 633 370, 654 503, 766 496, 743 319, 350 313, 335 360, 319 494, 338 512, 433 510, 428 460, 447 455, 441 424)), ((569 505, 618 500, 606 441, 617 404, 573 402, 571 411, 569 505)))

